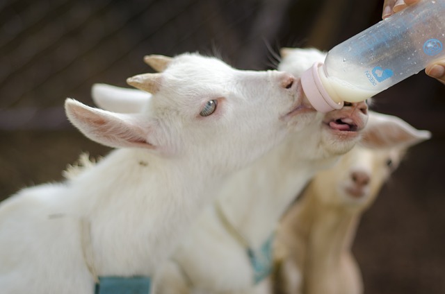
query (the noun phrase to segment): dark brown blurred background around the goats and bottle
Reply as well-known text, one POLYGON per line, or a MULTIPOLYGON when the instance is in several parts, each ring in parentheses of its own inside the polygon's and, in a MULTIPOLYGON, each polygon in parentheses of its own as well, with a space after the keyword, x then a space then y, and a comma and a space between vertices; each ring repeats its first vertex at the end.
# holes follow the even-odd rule
MULTIPOLYGON (((92 105, 93 83, 126 87, 149 53, 199 51, 270 69, 282 46, 329 50, 380 21, 383 1, 0 1, 0 200, 60 180, 79 153, 105 155, 65 119, 65 97, 92 105)), ((445 293, 445 86, 423 71, 378 94, 432 139, 364 214, 353 252, 366 294, 445 293)))

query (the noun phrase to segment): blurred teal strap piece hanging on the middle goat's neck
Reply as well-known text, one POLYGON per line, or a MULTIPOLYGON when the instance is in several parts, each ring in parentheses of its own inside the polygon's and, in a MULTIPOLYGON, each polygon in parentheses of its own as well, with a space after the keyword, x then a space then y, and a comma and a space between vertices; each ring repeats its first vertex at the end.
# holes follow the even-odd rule
POLYGON ((248 256, 254 271, 254 284, 258 284, 272 273, 273 252, 272 245, 275 235, 272 234, 258 251, 248 248, 248 256))

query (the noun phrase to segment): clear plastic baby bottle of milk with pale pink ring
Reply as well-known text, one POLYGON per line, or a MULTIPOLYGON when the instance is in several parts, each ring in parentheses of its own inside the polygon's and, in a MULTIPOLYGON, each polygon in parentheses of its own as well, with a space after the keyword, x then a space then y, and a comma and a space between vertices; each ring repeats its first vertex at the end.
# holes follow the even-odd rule
POLYGON ((359 102, 443 58, 445 0, 421 0, 335 46, 301 76, 319 112, 359 102))

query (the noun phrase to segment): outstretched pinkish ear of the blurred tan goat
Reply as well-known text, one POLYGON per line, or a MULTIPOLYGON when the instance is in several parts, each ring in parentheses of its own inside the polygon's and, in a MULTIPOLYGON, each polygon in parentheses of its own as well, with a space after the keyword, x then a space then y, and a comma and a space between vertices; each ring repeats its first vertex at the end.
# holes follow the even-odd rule
POLYGON ((430 137, 428 130, 417 130, 397 116, 369 112, 360 145, 367 148, 408 148, 430 137))

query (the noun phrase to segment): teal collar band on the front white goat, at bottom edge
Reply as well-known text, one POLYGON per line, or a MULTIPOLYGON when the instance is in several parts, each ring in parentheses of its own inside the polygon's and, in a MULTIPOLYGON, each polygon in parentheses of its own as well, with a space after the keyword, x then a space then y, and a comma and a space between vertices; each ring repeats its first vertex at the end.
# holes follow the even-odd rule
POLYGON ((149 294, 149 277, 99 277, 95 294, 149 294))

